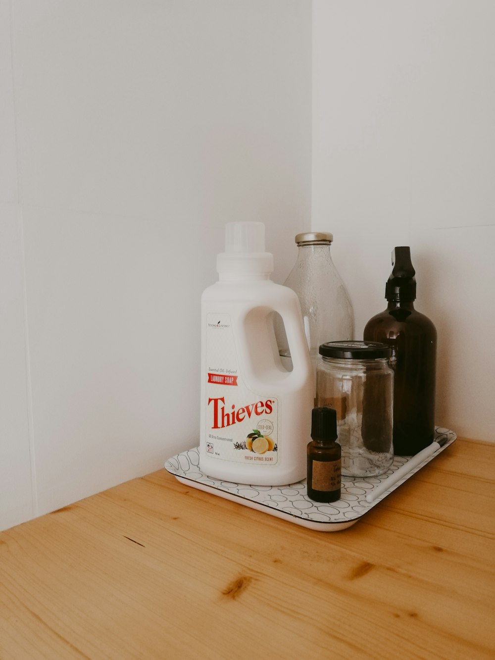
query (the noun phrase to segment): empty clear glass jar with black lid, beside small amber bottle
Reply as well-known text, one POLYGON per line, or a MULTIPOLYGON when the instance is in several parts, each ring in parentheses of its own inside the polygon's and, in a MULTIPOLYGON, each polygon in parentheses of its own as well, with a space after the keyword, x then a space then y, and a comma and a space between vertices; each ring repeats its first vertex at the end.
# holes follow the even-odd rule
POLYGON ((334 341, 319 347, 316 405, 335 409, 342 474, 376 477, 393 461, 391 349, 366 341, 334 341))

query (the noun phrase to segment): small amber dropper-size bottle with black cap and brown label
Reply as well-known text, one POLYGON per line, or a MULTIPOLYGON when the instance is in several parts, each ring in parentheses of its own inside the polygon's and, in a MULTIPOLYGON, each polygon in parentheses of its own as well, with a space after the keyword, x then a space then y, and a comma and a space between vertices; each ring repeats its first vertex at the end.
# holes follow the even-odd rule
POLYGON ((315 502, 337 502, 341 497, 341 446, 337 440, 337 413, 314 408, 312 442, 308 443, 308 497, 315 502))

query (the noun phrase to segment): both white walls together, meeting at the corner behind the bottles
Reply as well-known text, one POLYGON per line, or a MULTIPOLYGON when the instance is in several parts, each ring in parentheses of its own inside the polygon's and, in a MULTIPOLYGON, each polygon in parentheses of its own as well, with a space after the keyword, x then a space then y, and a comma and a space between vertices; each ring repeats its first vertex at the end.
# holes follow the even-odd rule
POLYGON ((197 442, 228 220, 265 222, 280 282, 312 207, 358 335, 410 244, 437 421, 494 439, 494 13, 0 0, 0 529, 197 442))

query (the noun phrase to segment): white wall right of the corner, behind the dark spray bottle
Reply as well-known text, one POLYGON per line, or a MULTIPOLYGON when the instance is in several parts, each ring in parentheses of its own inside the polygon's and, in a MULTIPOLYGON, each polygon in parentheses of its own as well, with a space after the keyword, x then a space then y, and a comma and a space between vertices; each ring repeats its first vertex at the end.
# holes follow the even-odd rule
POLYGON ((312 226, 358 337, 411 245, 438 329, 437 423, 494 440, 495 3, 314 0, 312 226))

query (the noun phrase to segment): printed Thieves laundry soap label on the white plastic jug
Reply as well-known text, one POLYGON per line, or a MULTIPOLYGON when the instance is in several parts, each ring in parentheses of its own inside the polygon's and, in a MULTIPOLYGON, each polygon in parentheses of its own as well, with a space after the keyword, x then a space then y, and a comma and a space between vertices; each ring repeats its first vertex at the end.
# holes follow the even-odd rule
POLYGON ((278 401, 240 374, 230 315, 207 314, 206 453, 249 465, 277 463, 278 401))

